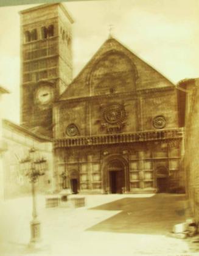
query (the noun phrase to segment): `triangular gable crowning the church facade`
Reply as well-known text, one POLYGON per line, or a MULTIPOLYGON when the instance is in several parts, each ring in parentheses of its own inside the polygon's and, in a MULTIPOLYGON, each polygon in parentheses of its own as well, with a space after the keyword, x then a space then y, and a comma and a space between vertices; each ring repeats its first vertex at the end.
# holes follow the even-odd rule
MULTIPOLYGON (((121 70, 123 68, 123 70, 125 71, 126 67, 124 67, 124 65, 129 66, 127 67, 128 81, 124 81, 122 84, 121 79, 120 83, 118 83, 117 86, 125 87, 126 82, 133 84, 133 82, 131 82, 133 81, 133 79, 134 87, 132 85, 131 90, 155 89, 159 87, 174 86, 174 84, 172 84, 169 79, 165 78, 163 75, 161 75, 161 73, 156 71, 155 68, 151 67, 146 62, 144 62, 144 60, 140 59, 138 56, 132 53, 130 49, 122 45, 122 43, 118 42, 115 38, 109 38, 105 41, 105 43, 103 43, 103 45, 100 47, 97 53, 94 54, 91 60, 89 60, 88 64, 85 65, 82 71, 80 71, 79 75, 77 75, 77 77, 71 82, 71 84, 69 84, 68 88, 60 96, 60 100, 90 97, 95 95, 95 93, 99 93, 97 86, 93 90, 93 85, 91 83, 93 83, 94 79, 98 79, 96 78, 97 75, 99 77, 102 76, 102 68, 107 65, 106 60, 108 59, 108 56, 111 56, 114 61, 114 56, 117 56, 117 54, 119 56, 118 60, 120 61, 119 65, 121 65, 121 70), (122 60, 122 58, 124 60, 122 60), (102 62, 102 64, 100 64, 100 61, 102 62), (128 62, 131 64, 128 65, 128 62), (132 70, 130 70, 130 67, 132 67, 132 70), (92 78, 92 76, 94 78, 92 78), (129 76, 131 76, 131 78, 129 76)), ((116 68, 115 65, 113 65, 113 68, 116 69, 113 73, 119 73, 120 68, 116 68)), ((110 76, 107 71, 105 82, 108 81, 108 79, 112 80, 115 84, 118 80, 117 77, 114 80, 114 76, 110 76)), ((100 81, 100 86, 104 86, 103 79, 101 79, 100 81)), ((107 94, 106 91, 105 94, 107 94)))

